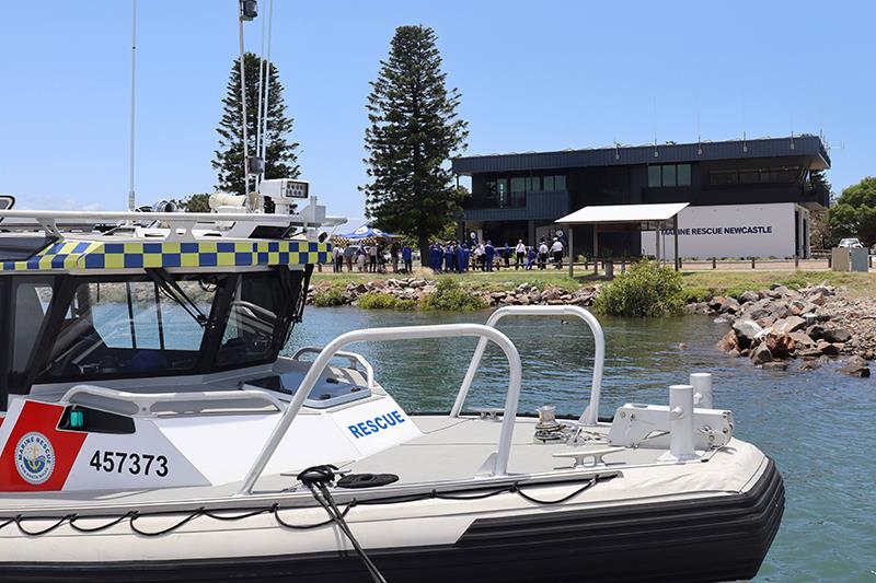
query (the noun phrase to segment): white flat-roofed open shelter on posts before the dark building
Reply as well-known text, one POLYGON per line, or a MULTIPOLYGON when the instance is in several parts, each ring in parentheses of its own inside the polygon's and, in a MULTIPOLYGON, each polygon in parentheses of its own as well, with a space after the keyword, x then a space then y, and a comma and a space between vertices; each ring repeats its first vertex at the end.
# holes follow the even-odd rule
MULTIPOLYGON (((679 269, 678 260, 678 213, 684 210, 689 202, 664 202, 657 205, 602 205, 590 206, 578 209, 572 214, 557 219, 557 224, 593 225, 593 263, 597 264, 599 257, 599 225, 610 224, 637 224, 642 231, 656 231, 657 235, 657 260, 660 260, 660 231, 666 229, 673 230, 676 245, 676 269, 679 269)), ((573 275, 575 264, 572 250, 572 230, 568 237, 569 264, 568 273, 573 275)))

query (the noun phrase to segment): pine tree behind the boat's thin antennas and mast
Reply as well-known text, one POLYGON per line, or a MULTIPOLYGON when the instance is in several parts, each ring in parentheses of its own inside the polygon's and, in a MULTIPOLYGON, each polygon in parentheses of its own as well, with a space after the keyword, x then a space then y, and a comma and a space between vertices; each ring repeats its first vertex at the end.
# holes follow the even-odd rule
MULTIPOLYGON (((250 155, 255 155, 256 124, 258 119, 258 57, 244 55, 246 75, 246 140, 250 155)), ((277 68, 272 63, 266 75, 268 86, 267 149, 265 152, 265 178, 297 178, 299 175, 298 143, 288 141, 292 131, 292 119, 286 117, 283 85, 277 68)), ((263 81, 263 92, 265 82, 263 81)), ((264 95, 264 93, 263 93, 264 95)), ((245 194, 243 190, 243 130, 240 110, 240 59, 234 59, 228 80, 222 119, 216 131, 219 149, 215 151, 212 167, 218 171, 217 190, 245 194)), ((251 188, 252 188, 252 183, 251 188)))

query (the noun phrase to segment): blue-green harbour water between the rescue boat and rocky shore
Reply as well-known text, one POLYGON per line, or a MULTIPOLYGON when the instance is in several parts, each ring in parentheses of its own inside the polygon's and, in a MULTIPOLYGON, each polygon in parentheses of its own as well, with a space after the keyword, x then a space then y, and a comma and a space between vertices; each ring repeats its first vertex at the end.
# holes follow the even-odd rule
MULTIPOLYGON (((287 350, 324 346, 356 328, 485 322, 487 313, 307 311, 287 350)), ((768 372, 715 350, 726 331, 710 318, 608 318, 601 415, 625 401, 664 404, 689 372, 715 375, 715 406, 734 411, 736 435, 772 456, 785 478, 782 528, 756 581, 876 581, 876 380, 832 370, 768 372), (680 349, 683 342, 687 349, 680 349)), ((523 362, 520 410, 587 404, 592 341, 583 323, 507 318, 500 325, 523 362)), ((351 346, 408 411, 449 410, 476 340, 351 346)), ((466 406, 502 406, 507 364, 491 347, 466 406)))

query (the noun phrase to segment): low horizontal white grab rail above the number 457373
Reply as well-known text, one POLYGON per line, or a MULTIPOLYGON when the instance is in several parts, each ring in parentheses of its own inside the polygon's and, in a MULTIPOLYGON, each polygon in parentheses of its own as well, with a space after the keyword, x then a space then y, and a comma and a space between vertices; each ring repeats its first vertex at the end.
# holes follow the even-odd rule
MULTIPOLYGON (((105 388, 102 386, 94 386, 94 385, 76 385, 67 390, 61 397, 61 403, 66 403, 69 405, 74 404, 74 398, 78 395, 92 395, 95 397, 100 397, 102 399, 107 399, 112 401, 118 401, 122 405, 132 405, 137 408, 136 411, 131 410, 132 407, 126 408, 124 412, 126 415, 155 415, 152 408, 160 403, 173 403, 173 404, 185 404, 185 403, 228 403, 228 401, 245 401, 245 400, 256 400, 263 401, 266 405, 273 406, 277 411, 283 410, 283 404, 280 400, 270 395, 269 393, 265 393, 262 390, 249 390, 249 389, 240 389, 240 390, 193 390, 193 392, 182 392, 182 393, 130 393, 127 390, 116 390, 113 388, 105 388)), ((80 404, 87 405, 87 404, 80 404)))

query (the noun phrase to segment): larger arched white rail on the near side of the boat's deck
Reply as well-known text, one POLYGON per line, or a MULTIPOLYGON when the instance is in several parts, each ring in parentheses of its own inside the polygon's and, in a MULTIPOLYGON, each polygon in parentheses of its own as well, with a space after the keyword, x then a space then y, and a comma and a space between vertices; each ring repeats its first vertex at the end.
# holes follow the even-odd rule
POLYGON ((505 398, 504 418, 502 420, 498 451, 496 453, 496 462, 493 471, 495 476, 506 475, 508 471, 508 458, 510 456, 511 438, 514 436, 514 424, 517 417, 518 403, 520 400, 520 382, 522 378, 520 354, 517 351, 517 347, 514 346, 514 342, 496 328, 484 326, 483 324, 437 324, 430 326, 366 328, 342 334, 320 351, 320 354, 301 380, 301 384, 298 386, 286 411, 284 411, 274 431, 253 462, 252 467, 250 467, 246 473, 238 493, 242 495, 252 493, 256 480, 262 476, 267 463, 270 460, 274 452, 276 452, 283 438, 289 430, 289 425, 295 421, 295 418, 304 405, 304 399, 307 399, 320 375, 328 365, 328 361, 331 361, 342 348, 354 342, 364 341, 459 338, 460 336, 476 336, 483 340, 489 340, 496 343, 508 359, 508 394, 505 398))

